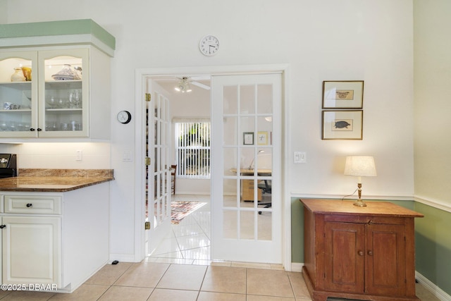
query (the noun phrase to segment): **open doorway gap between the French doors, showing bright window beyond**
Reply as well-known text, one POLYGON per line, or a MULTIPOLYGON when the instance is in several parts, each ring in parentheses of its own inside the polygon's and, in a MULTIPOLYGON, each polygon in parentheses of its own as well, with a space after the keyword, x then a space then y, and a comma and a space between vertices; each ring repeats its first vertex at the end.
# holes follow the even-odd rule
MULTIPOLYGON (((163 235, 146 235, 147 245, 152 246, 146 254, 149 261, 192 264, 194 260, 211 259, 209 78, 210 75, 160 75, 149 79, 154 99, 160 95, 168 99, 171 128, 154 130, 150 141, 167 140, 166 164, 176 166, 175 191, 168 193, 171 225, 163 227, 163 235), (165 134, 168 137, 163 137, 165 134)), ((149 120, 149 124, 152 123, 154 121, 149 120)), ((155 156, 157 165, 158 160, 163 159, 155 156)))

